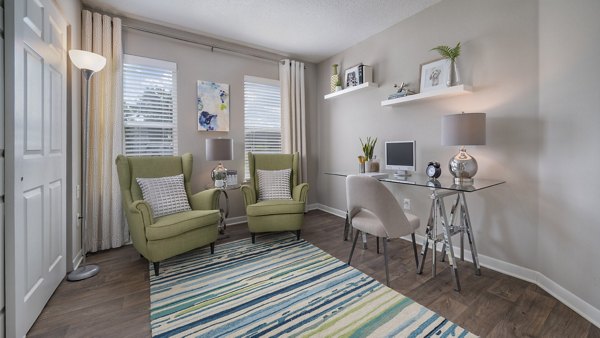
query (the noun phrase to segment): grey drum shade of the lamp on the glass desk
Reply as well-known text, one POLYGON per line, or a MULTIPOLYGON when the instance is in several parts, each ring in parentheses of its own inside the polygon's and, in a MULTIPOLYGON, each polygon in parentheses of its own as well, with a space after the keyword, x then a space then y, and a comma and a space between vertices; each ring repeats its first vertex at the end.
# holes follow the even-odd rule
POLYGON ((442 145, 485 144, 485 113, 454 114, 442 117, 442 145))

